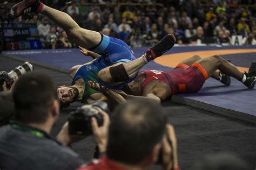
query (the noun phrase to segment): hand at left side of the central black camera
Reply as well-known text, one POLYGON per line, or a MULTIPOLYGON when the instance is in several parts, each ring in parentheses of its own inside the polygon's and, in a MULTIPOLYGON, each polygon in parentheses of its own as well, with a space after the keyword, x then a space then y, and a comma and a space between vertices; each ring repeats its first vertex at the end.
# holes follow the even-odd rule
POLYGON ((63 146, 68 146, 71 143, 74 143, 76 141, 82 140, 87 136, 82 135, 75 135, 75 134, 69 134, 69 122, 66 122, 62 126, 62 130, 57 134, 56 139, 62 143, 63 146))

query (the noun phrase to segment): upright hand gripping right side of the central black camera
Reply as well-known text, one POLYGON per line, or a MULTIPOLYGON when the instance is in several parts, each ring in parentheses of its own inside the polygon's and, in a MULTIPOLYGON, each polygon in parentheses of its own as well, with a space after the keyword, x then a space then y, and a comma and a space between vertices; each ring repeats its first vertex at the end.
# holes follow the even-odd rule
POLYGON ((95 138, 95 141, 99 147, 99 152, 105 152, 107 146, 107 140, 109 136, 109 125, 110 119, 109 115, 106 114, 103 110, 100 110, 100 115, 103 117, 103 125, 99 126, 95 117, 91 118, 92 133, 95 138))

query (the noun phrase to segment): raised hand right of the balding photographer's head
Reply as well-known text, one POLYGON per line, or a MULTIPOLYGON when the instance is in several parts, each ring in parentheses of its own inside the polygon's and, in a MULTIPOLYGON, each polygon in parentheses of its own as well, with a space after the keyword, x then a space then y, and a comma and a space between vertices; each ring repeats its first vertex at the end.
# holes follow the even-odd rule
POLYGON ((178 165, 178 152, 177 152, 177 139, 174 128, 172 125, 166 125, 167 135, 163 139, 163 163, 162 166, 166 170, 179 168, 178 165), (171 141, 172 146, 169 144, 168 139, 171 141))

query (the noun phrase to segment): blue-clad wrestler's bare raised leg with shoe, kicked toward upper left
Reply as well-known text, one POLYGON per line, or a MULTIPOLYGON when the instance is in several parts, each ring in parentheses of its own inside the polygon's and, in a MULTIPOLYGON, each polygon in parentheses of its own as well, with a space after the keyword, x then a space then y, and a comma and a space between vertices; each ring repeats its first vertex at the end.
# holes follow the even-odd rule
POLYGON ((16 4, 8 13, 8 17, 15 18, 29 12, 41 12, 49 17, 53 22, 62 27, 70 40, 78 46, 89 49, 97 46, 102 39, 99 32, 81 28, 67 13, 50 8, 39 0, 22 1, 16 4))

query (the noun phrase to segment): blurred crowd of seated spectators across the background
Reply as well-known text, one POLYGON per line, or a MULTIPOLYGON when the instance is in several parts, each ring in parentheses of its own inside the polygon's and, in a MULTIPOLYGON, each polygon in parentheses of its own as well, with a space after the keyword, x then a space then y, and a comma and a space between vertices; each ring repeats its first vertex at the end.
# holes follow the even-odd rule
MULTIPOLYGON (((68 13, 79 26, 122 39, 132 47, 152 46, 169 33, 176 36, 177 44, 230 45, 233 35, 241 35, 243 45, 256 44, 254 1, 44 2, 68 13)), ((37 24, 44 48, 75 46, 60 27, 41 15, 14 22, 37 24)))

